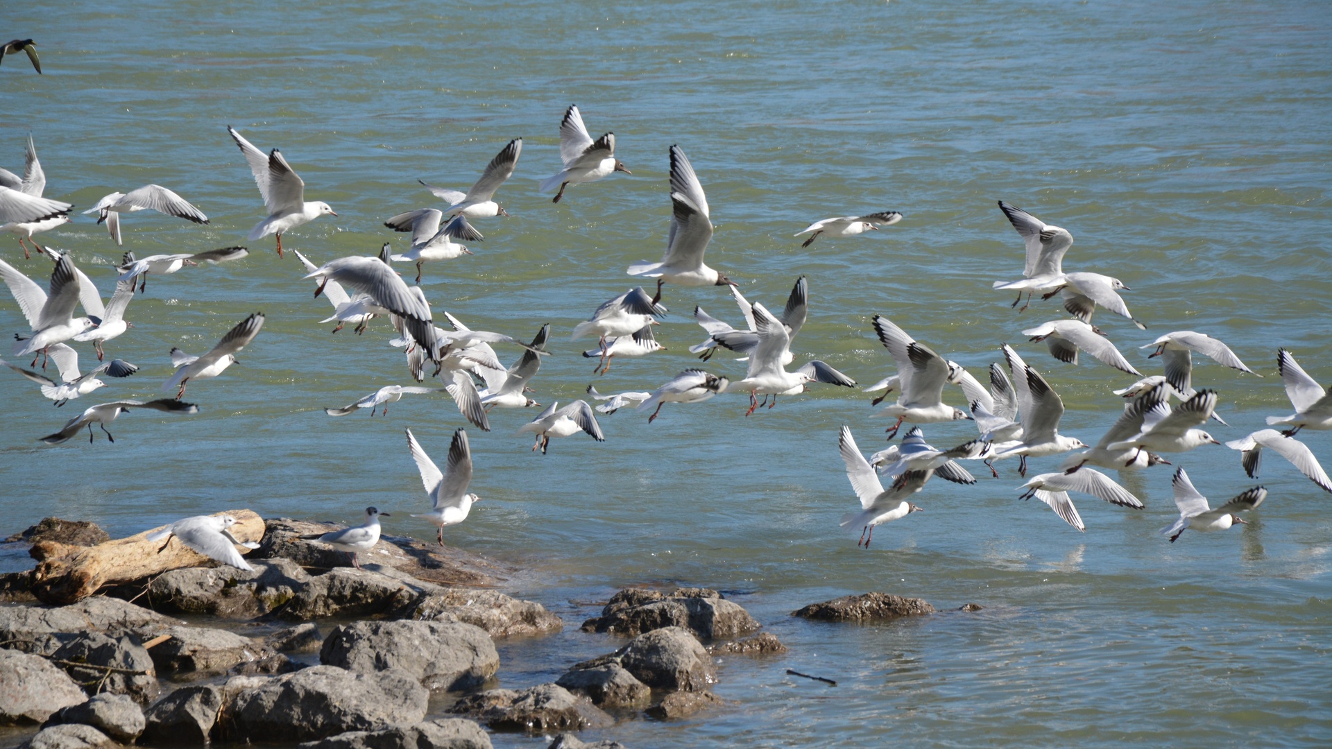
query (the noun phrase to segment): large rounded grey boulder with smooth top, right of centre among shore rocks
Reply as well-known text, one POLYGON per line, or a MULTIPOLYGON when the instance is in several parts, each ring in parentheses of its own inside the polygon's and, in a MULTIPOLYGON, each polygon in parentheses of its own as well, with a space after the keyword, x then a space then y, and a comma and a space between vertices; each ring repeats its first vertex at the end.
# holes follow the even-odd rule
POLYGON ((470 689, 500 670, 500 653, 470 624, 358 621, 333 628, 320 662, 357 673, 402 669, 426 689, 470 689))

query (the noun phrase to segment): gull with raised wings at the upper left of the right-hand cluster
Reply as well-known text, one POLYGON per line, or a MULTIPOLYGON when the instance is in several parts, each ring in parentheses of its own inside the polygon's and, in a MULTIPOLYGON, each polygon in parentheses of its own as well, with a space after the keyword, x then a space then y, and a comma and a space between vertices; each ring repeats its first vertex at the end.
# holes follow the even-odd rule
POLYGON ((942 356, 918 344, 906 331, 882 315, 874 316, 874 331, 898 365, 898 386, 902 388, 898 402, 875 414, 898 417, 898 422, 888 429, 890 440, 896 436, 903 421, 936 424, 971 418, 959 408, 943 405, 943 384, 948 378, 948 363, 942 356))

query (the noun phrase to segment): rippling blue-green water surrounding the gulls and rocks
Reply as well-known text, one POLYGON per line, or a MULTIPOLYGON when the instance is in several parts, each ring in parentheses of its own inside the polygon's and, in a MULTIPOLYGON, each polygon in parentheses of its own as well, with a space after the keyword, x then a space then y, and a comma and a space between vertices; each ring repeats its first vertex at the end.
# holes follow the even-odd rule
MULTIPOLYGON (((1144 374, 1158 335, 1216 336, 1261 378, 1195 357, 1195 386, 1220 393, 1219 440, 1263 428, 1291 405, 1276 376, 1285 347, 1332 381, 1332 16, 1323 4, 1119 3, 1030 5, 858 3, 369 3, 274 9, 262 4, 137 3, 12 8, 16 36, 37 40, 45 75, 11 56, 0 68, 0 164, 19 171, 31 131, 47 195, 85 209, 113 189, 166 185, 212 219, 206 227, 141 212, 124 219, 140 257, 248 244, 250 256, 151 277, 129 305, 136 324, 107 345, 139 364, 132 378, 63 408, 0 373, 0 530, 44 516, 93 520, 113 536, 188 514, 250 508, 265 517, 358 522, 392 512, 392 533, 433 538, 416 521, 425 498, 404 444, 410 428, 438 460, 464 425, 452 401, 409 396, 388 416, 330 418, 385 384, 408 384, 384 321, 330 336, 329 315, 294 257, 260 220, 254 184, 225 127, 281 148, 325 217, 284 237, 322 263, 370 255, 401 211, 437 201, 417 185, 465 188, 511 137, 523 153, 498 192, 510 219, 477 221, 472 257, 426 265, 433 308, 474 328, 530 339, 553 327, 554 356, 533 385, 542 404, 653 389, 697 365, 694 305, 739 323, 722 288, 667 287, 667 352, 615 361, 605 377, 569 343, 573 325, 631 285, 625 268, 657 260, 670 204, 667 147, 698 171, 717 235, 710 265, 751 301, 779 308, 807 275, 810 320, 797 364, 822 359, 862 384, 891 360, 870 327, 882 313, 982 376, 1014 344, 1063 396, 1062 432, 1095 442, 1132 377, 1051 359, 1020 331, 1062 317, 1056 303, 1018 313, 991 281, 1015 280, 1022 244, 995 200, 1070 229, 1070 271, 1122 279, 1148 329, 1096 313, 1144 374), (578 104, 593 135, 614 131, 634 172, 570 188, 551 205, 537 180, 557 171, 558 123, 578 104), (902 223, 802 249, 811 220, 895 209, 902 223), (81 408, 159 397, 166 352, 198 353, 234 323, 268 321, 240 364, 192 384, 201 413, 132 412, 60 446, 36 441, 81 408)), ((109 295, 120 257, 103 227, 79 216, 41 235, 73 252, 109 295)), ((3 257, 45 285, 49 264, 3 257)), ((410 279, 412 268, 401 271, 410 279)), ((0 297, 0 329, 25 329, 0 297)), ((503 361, 518 349, 496 347, 503 361)), ((80 347, 84 365, 91 349, 80 347)), ((24 363, 27 364, 27 363, 24 363)), ((743 363, 703 365, 733 380, 743 363)), ((960 392, 946 390, 954 405, 960 392)), ((453 545, 531 570, 514 594, 559 613, 566 632, 501 642, 498 684, 529 686, 622 644, 577 632, 615 589, 702 585, 727 592, 790 648, 729 658, 727 701, 689 720, 623 721, 589 733, 633 748, 781 746, 886 741, 970 746, 1327 745, 1332 742, 1332 494, 1280 457, 1259 480, 1237 453, 1209 445, 1169 456, 1213 505, 1268 488, 1249 525, 1158 530, 1176 516, 1169 466, 1126 478, 1142 512, 1076 497, 1078 533, 1039 502, 1018 500, 1012 461, 975 486, 931 481, 926 512, 878 528, 870 550, 836 522, 855 505, 836 452, 851 426, 880 449, 870 396, 815 386, 745 417, 743 394, 666 406, 647 425, 601 418, 607 441, 553 440, 533 454, 514 430, 533 410, 492 413, 469 428, 472 517, 453 545), (809 602, 883 590, 942 613, 882 626, 805 622, 809 602), (979 612, 956 612, 976 602, 979 612), (791 668, 838 681, 830 688, 791 668)), ((930 425, 951 446, 971 422, 930 425)), ((1332 436, 1301 433, 1328 466, 1332 436)), ((1032 461, 1032 473, 1058 458, 1032 461)), ((0 569, 31 564, 0 549, 0 569)), ((587 737, 585 737, 587 738, 587 737)), ((497 746, 538 738, 494 734, 497 746)))

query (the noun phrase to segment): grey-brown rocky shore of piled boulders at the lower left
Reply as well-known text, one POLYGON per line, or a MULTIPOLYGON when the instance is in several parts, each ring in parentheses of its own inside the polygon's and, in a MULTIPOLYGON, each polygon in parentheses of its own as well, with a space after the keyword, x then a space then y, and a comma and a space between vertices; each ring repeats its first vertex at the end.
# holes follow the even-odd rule
MULTIPOLYGON (((713 693, 719 664, 786 653, 717 590, 630 588, 581 626, 605 634, 605 654, 559 666, 553 682, 497 688, 497 641, 565 626, 541 604, 498 590, 517 569, 397 537, 353 569, 345 554, 300 538, 328 528, 266 520, 246 556, 253 570, 169 569, 68 605, 37 601, 29 572, 0 576, 0 725, 29 726, 8 744, 462 749, 492 746, 490 732, 519 732, 554 736, 550 746, 609 748, 619 744, 573 732, 723 705, 713 693)), ((48 552, 116 542, 55 518, 11 541, 48 552)), ((866 622, 931 612, 916 598, 870 593, 794 616, 866 622)))

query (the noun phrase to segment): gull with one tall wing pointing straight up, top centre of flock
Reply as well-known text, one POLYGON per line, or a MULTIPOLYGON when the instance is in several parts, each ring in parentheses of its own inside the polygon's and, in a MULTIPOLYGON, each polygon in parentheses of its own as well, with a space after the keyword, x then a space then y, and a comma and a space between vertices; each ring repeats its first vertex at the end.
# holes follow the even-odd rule
POLYGON ((682 287, 734 285, 731 280, 703 264, 703 252, 713 240, 707 197, 698 175, 678 145, 670 147, 670 233, 661 263, 639 260, 626 273, 661 279, 682 287))

